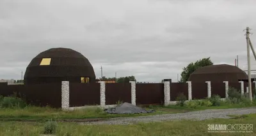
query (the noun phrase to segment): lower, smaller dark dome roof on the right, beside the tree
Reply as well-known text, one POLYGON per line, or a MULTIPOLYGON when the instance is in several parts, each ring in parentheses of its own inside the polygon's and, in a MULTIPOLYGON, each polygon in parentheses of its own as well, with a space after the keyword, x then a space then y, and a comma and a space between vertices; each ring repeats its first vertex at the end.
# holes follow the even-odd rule
POLYGON ((196 69, 196 71, 189 76, 188 81, 238 82, 239 79, 248 79, 246 72, 234 65, 220 64, 208 65, 196 69))

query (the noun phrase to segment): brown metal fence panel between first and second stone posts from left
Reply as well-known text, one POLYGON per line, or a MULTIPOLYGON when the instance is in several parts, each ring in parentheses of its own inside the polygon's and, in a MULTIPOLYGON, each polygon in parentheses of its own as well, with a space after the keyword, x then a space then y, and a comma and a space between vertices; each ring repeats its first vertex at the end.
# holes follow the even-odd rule
POLYGON ((100 104, 99 83, 69 83, 69 105, 79 107, 100 104))

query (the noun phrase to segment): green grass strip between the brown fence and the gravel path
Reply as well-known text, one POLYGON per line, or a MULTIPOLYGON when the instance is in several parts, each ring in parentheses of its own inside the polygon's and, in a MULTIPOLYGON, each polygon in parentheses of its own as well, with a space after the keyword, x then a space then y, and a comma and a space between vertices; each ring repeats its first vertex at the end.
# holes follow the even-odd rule
POLYGON ((25 107, 19 108, 0 108, 0 120, 5 121, 45 121, 48 119, 108 119, 115 117, 129 117, 129 116, 148 116, 155 114, 170 114, 179 112, 198 111, 204 109, 228 109, 228 108, 239 108, 239 107, 250 107, 242 106, 239 104, 233 105, 220 105, 211 107, 180 107, 176 105, 169 106, 150 106, 146 109, 155 109, 156 112, 148 114, 107 114, 100 108, 90 109, 79 109, 75 111, 62 111, 61 109, 54 109, 51 107, 25 107))

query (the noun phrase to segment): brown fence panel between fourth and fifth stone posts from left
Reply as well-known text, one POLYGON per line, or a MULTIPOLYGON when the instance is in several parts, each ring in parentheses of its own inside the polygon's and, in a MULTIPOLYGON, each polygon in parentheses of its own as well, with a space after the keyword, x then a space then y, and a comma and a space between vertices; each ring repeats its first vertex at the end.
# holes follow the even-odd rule
POLYGON ((183 93, 186 96, 186 100, 188 100, 188 83, 171 83, 171 101, 175 101, 180 93, 183 93))

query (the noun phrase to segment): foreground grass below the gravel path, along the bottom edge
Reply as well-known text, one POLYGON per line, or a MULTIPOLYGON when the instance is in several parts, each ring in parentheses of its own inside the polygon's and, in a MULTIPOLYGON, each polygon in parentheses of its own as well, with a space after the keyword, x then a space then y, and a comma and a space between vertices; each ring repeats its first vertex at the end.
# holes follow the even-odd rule
MULTIPOLYGON (((256 114, 243 118, 210 119, 205 121, 168 121, 160 123, 139 123, 138 125, 79 125, 78 123, 58 123, 56 135, 256 135, 254 127, 251 133, 209 133, 208 124, 253 124, 256 125, 256 114)), ((0 135, 39 135, 44 131, 44 123, 11 122, 0 123, 0 135)))

